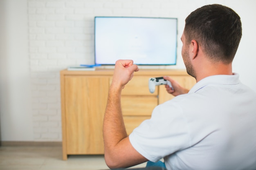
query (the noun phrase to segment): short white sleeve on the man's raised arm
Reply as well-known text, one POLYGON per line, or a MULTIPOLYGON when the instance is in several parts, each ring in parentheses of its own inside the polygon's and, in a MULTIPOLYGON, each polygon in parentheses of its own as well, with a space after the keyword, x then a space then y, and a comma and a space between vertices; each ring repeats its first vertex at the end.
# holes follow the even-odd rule
POLYGON ((129 139, 135 150, 153 162, 190 146, 186 118, 171 100, 158 105, 151 118, 135 128, 129 139))

